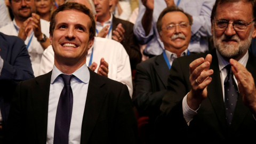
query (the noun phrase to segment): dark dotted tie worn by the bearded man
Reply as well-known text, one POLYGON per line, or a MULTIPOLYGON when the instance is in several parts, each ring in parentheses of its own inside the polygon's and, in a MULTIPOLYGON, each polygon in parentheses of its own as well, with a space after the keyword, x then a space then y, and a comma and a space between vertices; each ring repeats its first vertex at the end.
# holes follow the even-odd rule
POLYGON ((231 66, 225 67, 228 71, 228 75, 225 78, 224 90, 225 90, 225 108, 226 108, 226 119, 228 125, 231 125, 231 121, 236 108, 236 102, 238 97, 237 85, 233 77, 231 66))

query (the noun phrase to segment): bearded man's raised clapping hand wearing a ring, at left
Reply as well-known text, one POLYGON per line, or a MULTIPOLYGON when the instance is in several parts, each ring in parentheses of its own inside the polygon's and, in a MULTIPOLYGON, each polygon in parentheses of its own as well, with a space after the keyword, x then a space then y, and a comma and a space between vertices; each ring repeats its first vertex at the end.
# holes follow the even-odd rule
POLYGON ((196 110, 207 97, 207 86, 211 83, 210 76, 213 74, 213 70, 209 69, 211 62, 212 55, 207 54, 205 59, 196 59, 189 65, 191 90, 187 96, 187 103, 193 110, 196 110))

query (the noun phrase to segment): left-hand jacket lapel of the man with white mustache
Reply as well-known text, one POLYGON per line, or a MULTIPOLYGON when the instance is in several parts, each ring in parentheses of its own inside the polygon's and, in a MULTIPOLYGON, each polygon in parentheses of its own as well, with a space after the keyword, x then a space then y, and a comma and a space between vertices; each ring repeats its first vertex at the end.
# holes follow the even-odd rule
POLYGON ((170 73, 170 69, 168 68, 168 66, 164 60, 163 53, 156 57, 155 63, 156 63, 156 65, 155 65, 156 73, 157 73, 159 79, 161 79, 165 89, 167 89, 166 85, 167 85, 167 79, 168 79, 168 76, 170 73))

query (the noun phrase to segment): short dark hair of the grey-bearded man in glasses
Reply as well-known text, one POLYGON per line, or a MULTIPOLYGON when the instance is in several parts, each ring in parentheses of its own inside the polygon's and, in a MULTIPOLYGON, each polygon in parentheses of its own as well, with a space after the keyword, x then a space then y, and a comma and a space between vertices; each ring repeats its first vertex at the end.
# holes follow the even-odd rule
POLYGON ((256 0, 216 0, 215 4, 213 5, 211 19, 212 20, 214 19, 218 5, 223 4, 223 3, 236 3, 236 2, 240 2, 240 1, 249 2, 252 4, 253 19, 255 19, 256 18, 256 0))

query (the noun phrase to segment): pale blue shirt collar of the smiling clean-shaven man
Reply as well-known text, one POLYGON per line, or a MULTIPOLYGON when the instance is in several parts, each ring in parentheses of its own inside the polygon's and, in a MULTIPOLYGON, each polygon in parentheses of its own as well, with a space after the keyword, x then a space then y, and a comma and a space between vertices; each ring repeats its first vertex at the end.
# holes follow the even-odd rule
MULTIPOLYGON (((51 84, 53 84, 56 81, 56 78, 60 74, 63 73, 54 65, 52 69, 51 84)), ((78 78, 80 81, 86 84, 90 81, 90 72, 88 70, 86 63, 71 75, 74 75, 76 78, 78 78)))

